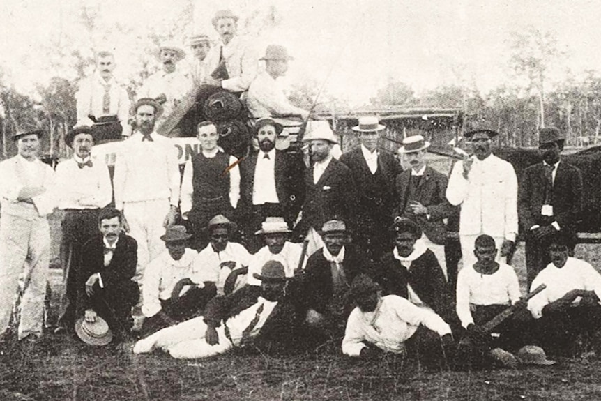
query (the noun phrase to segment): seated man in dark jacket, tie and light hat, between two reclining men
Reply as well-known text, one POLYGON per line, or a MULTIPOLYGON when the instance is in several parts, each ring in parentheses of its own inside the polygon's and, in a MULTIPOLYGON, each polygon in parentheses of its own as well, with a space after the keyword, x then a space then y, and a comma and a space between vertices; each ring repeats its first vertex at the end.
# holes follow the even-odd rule
POLYGON ((367 256, 347 245, 347 227, 340 220, 325 222, 319 234, 326 246, 307 260, 303 282, 308 308, 305 323, 310 327, 340 328, 342 334, 354 307, 348 292, 355 276, 366 273, 367 256))

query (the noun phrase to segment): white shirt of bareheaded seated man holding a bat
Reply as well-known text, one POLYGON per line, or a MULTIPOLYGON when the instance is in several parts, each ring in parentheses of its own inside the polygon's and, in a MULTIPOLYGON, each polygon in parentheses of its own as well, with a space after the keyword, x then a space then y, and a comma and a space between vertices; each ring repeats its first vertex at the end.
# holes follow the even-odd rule
POLYGON ((473 266, 462 268, 457 276, 457 316, 462 326, 473 323, 469 305, 513 305, 522 294, 511 266, 499 262, 499 270, 481 274, 473 266))

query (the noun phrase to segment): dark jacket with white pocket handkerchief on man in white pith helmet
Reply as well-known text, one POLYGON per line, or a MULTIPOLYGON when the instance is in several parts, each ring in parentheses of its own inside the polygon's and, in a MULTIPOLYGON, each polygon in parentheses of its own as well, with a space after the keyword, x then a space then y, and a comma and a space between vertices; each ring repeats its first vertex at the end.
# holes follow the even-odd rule
POLYGON ((320 230, 324 222, 344 220, 349 229, 354 228, 357 190, 351 170, 332 158, 317 183, 313 183, 313 167, 305 171, 305 202, 300 234, 309 227, 320 230))

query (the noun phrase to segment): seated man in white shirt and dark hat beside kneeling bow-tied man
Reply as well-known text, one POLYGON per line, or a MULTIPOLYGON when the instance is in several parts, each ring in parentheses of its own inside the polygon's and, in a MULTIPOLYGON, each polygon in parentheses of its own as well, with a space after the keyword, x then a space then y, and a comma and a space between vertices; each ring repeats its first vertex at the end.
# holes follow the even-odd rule
POLYGON ((153 259, 144 272, 142 313, 146 319, 142 335, 200 315, 208 300, 215 296, 214 282, 195 285, 190 281, 192 265, 198 255, 195 250, 186 248, 191 236, 185 227, 174 225, 167 227, 165 235, 160 237, 167 249, 153 259), (191 287, 185 288, 185 285, 191 287))

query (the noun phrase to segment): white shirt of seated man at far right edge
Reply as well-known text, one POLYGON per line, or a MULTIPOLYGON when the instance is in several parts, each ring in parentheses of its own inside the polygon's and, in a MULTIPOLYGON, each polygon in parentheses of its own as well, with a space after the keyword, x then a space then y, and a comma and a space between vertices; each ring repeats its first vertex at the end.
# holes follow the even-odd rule
MULTIPOLYGON (((591 264, 575 257, 568 257, 568 261, 561 268, 549 263, 538 273, 531 288, 535 289, 541 284, 547 288, 528 301, 528 310, 535 319, 542 316, 542 308, 545 308, 545 305, 557 301, 572 289, 594 291, 601 299, 601 275, 591 264)), ((577 298, 574 302, 579 301, 580 298, 577 298)))

